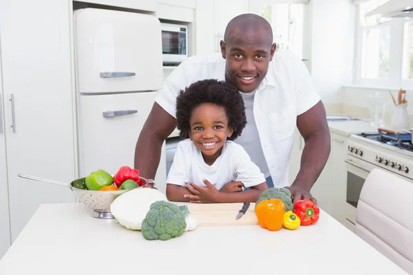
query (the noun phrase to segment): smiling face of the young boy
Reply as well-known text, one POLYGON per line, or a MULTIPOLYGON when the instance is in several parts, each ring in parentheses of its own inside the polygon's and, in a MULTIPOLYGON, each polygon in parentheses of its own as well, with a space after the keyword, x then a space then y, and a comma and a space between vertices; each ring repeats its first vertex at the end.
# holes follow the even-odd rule
POLYGON ((211 165, 220 156, 226 138, 233 133, 225 109, 212 103, 200 104, 193 109, 189 125, 189 137, 202 151, 204 161, 211 165))

